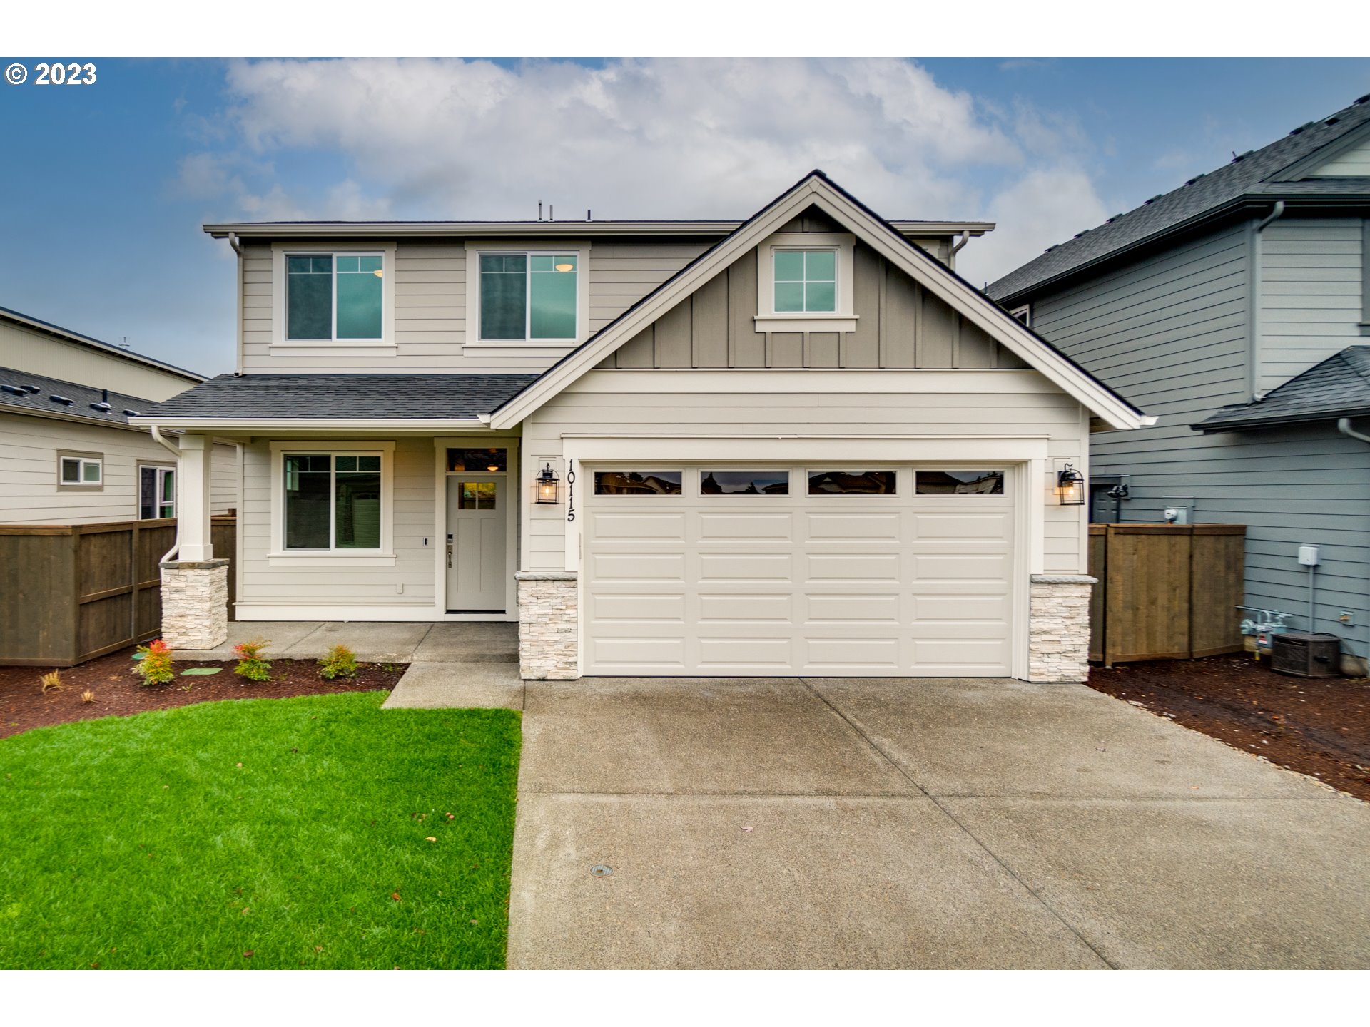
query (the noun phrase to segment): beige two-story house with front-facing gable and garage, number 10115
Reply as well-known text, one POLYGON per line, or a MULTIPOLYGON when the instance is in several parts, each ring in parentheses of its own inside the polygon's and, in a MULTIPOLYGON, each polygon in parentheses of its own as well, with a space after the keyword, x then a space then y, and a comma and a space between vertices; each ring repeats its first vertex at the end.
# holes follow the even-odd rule
POLYGON ((189 444, 164 634, 223 638, 215 434, 241 620, 518 620, 526 678, 1080 679, 1066 466, 1145 419, 954 272, 991 227, 818 171, 743 222, 207 226, 238 371, 136 419, 189 444))

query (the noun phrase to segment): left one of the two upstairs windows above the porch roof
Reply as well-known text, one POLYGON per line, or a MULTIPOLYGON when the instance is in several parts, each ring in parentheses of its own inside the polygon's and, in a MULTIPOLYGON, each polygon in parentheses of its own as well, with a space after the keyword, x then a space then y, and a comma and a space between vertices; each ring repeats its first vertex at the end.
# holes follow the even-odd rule
POLYGON ((385 267, 379 253, 310 253, 285 257, 288 341, 379 340, 385 267))

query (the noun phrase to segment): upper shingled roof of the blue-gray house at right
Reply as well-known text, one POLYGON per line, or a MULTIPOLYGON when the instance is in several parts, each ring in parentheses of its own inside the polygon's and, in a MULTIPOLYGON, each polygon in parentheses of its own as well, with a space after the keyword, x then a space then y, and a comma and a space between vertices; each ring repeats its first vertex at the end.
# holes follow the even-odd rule
POLYGON ((1128 214, 1110 218, 1096 229, 1082 231, 1045 253, 1029 260, 1015 271, 992 283, 985 292, 995 300, 1011 300, 1019 294, 1085 264, 1101 260, 1121 249, 1180 227, 1211 211, 1248 194, 1270 196, 1344 196, 1370 194, 1366 179, 1330 179, 1326 185, 1314 181, 1281 183, 1281 173, 1330 142, 1370 123, 1370 96, 1362 96, 1349 107, 1295 129, 1281 140, 1244 153, 1206 175, 1191 178, 1178 189, 1147 200, 1128 214))

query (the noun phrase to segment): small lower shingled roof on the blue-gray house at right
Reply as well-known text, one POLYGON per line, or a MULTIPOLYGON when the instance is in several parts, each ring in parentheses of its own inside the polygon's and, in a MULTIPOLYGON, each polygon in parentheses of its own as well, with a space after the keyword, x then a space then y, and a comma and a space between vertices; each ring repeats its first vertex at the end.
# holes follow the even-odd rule
POLYGON ((1365 415, 1370 415, 1370 346, 1347 346, 1278 389, 1271 389, 1263 400, 1223 407, 1192 427, 1197 431, 1240 431, 1365 415))

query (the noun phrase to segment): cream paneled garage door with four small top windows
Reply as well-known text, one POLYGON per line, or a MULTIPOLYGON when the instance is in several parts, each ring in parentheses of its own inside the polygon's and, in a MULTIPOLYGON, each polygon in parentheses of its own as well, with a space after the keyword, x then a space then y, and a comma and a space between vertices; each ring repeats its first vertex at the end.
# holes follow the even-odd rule
POLYGON ((585 470, 585 674, 1010 674, 1003 467, 585 470))

